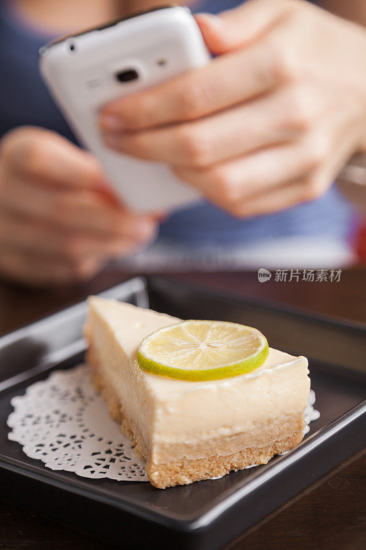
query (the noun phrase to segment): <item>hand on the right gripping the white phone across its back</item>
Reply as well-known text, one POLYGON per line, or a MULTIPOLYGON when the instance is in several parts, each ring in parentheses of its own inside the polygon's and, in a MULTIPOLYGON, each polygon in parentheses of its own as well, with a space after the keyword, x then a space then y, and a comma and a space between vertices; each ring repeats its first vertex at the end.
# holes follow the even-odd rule
POLYGON ((366 151, 366 32, 299 0, 198 16, 209 65, 109 104, 119 151, 170 164, 232 214, 315 199, 366 151))

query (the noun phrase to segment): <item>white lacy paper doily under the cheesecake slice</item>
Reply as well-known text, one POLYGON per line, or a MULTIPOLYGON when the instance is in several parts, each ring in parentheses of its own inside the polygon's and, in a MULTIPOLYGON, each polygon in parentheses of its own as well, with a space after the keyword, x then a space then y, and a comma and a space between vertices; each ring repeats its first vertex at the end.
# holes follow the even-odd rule
MULTIPOLYGON (((88 365, 54 371, 47 380, 29 386, 25 395, 13 397, 8 438, 51 470, 94 479, 148 481, 144 461, 109 416, 90 372, 88 365)), ((307 424, 319 418, 314 402, 310 390, 307 424)))

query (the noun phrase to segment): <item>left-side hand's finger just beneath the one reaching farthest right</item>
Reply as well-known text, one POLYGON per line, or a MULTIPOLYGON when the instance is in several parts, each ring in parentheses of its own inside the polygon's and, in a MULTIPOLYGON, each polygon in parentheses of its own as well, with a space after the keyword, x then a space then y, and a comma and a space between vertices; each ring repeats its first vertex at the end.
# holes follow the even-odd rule
POLYGON ((62 232, 47 223, 2 214, 0 243, 3 248, 34 252, 56 260, 75 261, 108 258, 130 252, 141 240, 132 236, 108 236, 62 232))

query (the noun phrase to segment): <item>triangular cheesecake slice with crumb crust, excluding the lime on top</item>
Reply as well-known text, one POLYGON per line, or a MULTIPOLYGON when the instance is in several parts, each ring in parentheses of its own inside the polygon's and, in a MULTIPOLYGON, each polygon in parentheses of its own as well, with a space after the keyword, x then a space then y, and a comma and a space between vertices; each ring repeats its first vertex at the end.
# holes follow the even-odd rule
POLYGON ((134 439, 152 485, 222 476, 290 450, 304 437, 308 361, 277 349, 250 373, 187 382, 142 371, 139 344, 179 319, 117 300, 89 298, 84 327, 111 416, 134 439))

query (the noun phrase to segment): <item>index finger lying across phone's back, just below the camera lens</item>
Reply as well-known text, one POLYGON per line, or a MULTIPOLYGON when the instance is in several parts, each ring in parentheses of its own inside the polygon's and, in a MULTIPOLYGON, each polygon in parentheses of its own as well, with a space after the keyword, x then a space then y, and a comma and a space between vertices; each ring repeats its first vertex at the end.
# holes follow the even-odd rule
POLYGON ((113 134, 195 120, 263 94, 282 80, 271 47, 260 41, 111 102, 102 110, 100 128, 104 134, 113 134))

